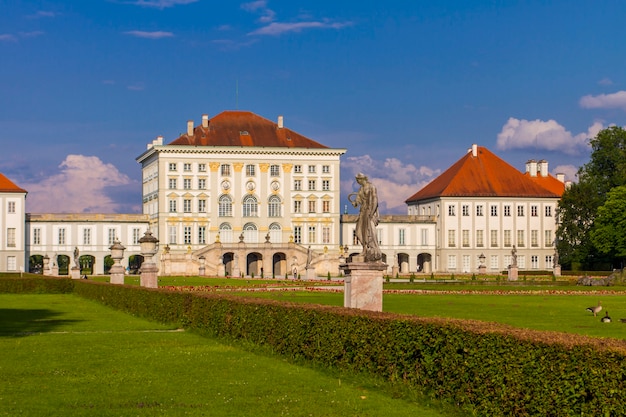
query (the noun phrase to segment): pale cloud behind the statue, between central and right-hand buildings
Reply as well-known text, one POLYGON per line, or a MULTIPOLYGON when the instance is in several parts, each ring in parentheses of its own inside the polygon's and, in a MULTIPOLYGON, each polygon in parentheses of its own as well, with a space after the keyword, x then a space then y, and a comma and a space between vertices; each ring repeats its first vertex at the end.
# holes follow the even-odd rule
POLYGON ((396 158, 379 161, 370 155, 348 157, 341 168, 342 178, 347 178, 341 182, 342 194, 347 196, 358 189, 354 177, 362 172, 376 186, 381 214, 406 214, 404 201, 441 172, 405 164, 396 158))

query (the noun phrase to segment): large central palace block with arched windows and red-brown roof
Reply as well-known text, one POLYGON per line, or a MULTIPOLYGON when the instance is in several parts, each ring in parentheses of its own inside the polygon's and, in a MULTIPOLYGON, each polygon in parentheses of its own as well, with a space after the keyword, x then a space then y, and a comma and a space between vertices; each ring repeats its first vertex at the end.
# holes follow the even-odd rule
POLYGON ((335 274, 345 152, 248 111, 158 137, 137 161, 159 274, 335 274))

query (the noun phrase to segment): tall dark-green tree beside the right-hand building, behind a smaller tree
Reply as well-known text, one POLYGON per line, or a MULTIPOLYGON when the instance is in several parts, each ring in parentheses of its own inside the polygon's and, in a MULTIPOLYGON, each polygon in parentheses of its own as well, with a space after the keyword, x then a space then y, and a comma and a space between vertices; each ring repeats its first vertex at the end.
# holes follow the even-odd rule
POLYGON ((591 156, 578 171, 573 184, 559 202, 557 250, 562 265, 593 269, 611 254, 601 252, 591 239, 598 209, 611 189, 626 185, 626 131, 618 126, 604 129, 591 139, 591 156))

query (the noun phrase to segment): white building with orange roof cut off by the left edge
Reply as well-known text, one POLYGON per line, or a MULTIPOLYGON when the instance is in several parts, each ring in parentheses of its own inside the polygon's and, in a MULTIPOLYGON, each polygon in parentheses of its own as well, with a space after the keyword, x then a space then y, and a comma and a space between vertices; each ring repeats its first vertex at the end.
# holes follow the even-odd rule
POLYGON ((24 272, 26 190, 0 174, 0 272, 24 272))

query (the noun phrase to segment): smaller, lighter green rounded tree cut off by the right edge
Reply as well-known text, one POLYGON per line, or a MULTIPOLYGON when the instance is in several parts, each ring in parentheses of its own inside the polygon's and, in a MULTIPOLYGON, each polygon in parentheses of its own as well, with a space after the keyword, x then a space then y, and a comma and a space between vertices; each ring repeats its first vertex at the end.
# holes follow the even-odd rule
POLYGON ((626 258, 626 186, 609 191, 598 208, 591 241, 601 253, 622 261, 626 258))

